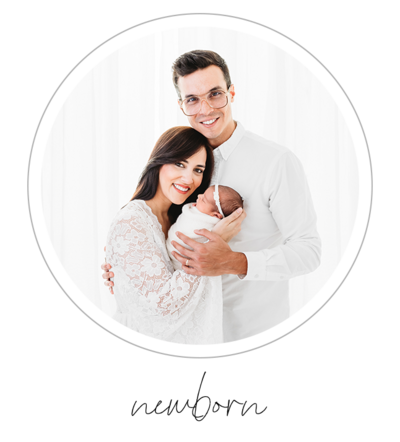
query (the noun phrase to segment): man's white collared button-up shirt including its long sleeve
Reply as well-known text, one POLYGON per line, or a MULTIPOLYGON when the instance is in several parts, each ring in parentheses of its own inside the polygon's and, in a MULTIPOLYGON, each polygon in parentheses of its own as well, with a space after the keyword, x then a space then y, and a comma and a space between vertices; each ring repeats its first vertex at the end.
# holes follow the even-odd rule
POLYGON ((247 257, 247 275, 223 275, 224 342, 261 333, 289 317, 289 278, 315 270, 321 240, 307 180, 287 148, 240 123, 214 149, 211 185, 235 189, 247 217, 229 243, 247 257))

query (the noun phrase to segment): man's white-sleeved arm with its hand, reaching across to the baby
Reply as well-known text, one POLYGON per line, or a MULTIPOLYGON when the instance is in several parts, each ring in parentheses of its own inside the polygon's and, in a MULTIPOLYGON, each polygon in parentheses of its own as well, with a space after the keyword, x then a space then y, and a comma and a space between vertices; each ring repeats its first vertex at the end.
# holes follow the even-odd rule
MULTIPOLYGON (((190 273, 206 276, 231 273, 245 275, 244 278, 241 276, 244 280, 280 281, 309 273, 319 266, 321 240, 300 161, 291 152, 286 152, 278 158, 273 173, 268 178, 268 206, 284 243, 270 249, 243 252, 247 263, 246 273, 243 273, 244 258, 239 258, 230 248, 221 249, 222 245, 217 244, 217 239, 214 239, 214 243, 210 240, 202 245, 203 248, 197 248, 196 254, 190 256, 190 273)), ((186 242, 185 238, 181 239, 186 242)), ((177 250, 179 251, 178 247, 177 250)))

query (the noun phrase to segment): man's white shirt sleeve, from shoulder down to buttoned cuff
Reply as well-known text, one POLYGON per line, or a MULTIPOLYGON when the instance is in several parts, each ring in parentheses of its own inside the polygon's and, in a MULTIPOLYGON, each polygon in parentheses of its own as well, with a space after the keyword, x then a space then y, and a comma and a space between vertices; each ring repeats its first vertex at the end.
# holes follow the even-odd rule
POLYGON ((239 276, 243 281, 285 280, 312 272, 320 264, 317 217, 300 161, 286 152, 272 170, 268 206, 284 242, 271 249, 243 252, 247 258, 247 274, 239 276))

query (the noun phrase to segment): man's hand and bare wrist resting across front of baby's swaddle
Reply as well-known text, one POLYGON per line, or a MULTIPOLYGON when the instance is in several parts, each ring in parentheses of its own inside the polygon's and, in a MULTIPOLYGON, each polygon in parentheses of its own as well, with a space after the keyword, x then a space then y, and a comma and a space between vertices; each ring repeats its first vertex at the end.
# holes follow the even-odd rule
POLYGON ((197 276, 245 275, 247 273, 246 255, 233 252, 228 244, 214 232, 201 229, 195 230, 195 233, 205 236, 209 241, 201 244, 181 232, 176 232, 177 237, 193 250, 182 247, 176 241, 171 242, 179 253, 188 257, 187 260, 179 253, 172 252, 186 273, 197 276))

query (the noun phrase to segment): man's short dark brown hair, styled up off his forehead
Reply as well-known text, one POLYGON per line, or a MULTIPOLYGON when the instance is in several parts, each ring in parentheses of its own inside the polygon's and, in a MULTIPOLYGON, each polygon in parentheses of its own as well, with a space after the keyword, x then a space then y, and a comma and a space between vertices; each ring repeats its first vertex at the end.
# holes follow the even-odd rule
POLYGON ((195 50, 186 52, 178 57, 172 65, 172 81, 174 83, 176 92, 181 100, 181 92, 178 87, 179 77, 192 74, 198 69, 205 69, 208 66, 218 66, 224 74, 227 89, 231 86, 231 76, 229 75, 228 65, 225 60, 213 51, 195 50))

